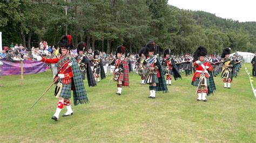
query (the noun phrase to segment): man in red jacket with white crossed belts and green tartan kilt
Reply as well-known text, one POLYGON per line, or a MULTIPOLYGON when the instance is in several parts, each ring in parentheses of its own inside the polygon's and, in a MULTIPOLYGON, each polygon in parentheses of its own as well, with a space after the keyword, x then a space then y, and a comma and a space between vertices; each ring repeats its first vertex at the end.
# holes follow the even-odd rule
POLYGON ((198 47, 194 53, 194 67, 196 68, 196 73, 192 78, 192 85, 197 87, 198 98, 197 101, 203 100, 207 101, 206 95, 211 95, 216 90, 215 83, 212 76, 212 66, 211 63, 206 61, 205 56, 207 55, 207 50, 205 47, 198 47))

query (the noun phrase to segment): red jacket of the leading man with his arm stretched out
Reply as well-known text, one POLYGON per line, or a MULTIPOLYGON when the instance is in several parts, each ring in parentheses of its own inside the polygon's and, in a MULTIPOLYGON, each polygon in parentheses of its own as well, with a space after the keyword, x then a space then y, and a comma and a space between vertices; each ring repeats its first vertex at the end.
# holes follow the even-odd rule
MULTIPOLYGON (((62 57, 55 58, 55 59, 46 59, 46 58, 42 57, 41 61, 45 62, 45 63, 57 63, 60 59, 62 59, 62 57)), ((64 74, 65 78, 62 79, 62 82, 64 84, 69 84, 72 81, 71 78, 73 77, 72 68, 69 67, 68 69, 66 69, 69 65, 69 62, 70 62, 70 60, 67 59, 67 60, 63 61, 62 63, 60 63, 58 66, 58 71, 59 71, 58 74, 64 74), (65 70, 65 72, 63 73, 64 70, 65 70)))

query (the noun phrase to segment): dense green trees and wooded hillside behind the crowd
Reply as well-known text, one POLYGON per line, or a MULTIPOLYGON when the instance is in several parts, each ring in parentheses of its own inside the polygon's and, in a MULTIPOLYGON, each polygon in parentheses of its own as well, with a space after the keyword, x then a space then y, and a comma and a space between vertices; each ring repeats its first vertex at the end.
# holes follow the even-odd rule
POLYGON ((136 53, 150 40, 156 41, 158 53, 170 48, 174 55, 192 53, 200 45, 212 54, 224 47, 256 51, 256 22, 181 10, 167 0, 5 0, 0 18, 3 46, 15 42, 30 49, 41 40, 56 45, 68 33, 75 45, 85 41, 106 53, 118 45, 136 53))

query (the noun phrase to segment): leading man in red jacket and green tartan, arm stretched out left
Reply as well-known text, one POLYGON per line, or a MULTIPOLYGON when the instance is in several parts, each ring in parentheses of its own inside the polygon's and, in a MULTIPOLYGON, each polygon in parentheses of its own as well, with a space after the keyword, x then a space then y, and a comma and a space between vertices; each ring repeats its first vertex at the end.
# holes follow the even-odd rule
POLYGON ((62 111, 64 106, 66 106, 68 111, 64 113, 63 117, 73 115, 73 110, 70 105, 71 90, 73 90, 74 105, 89 103, 77 61, 75 58, 70 56, 70 50, 73 49, 73 40, 71 39, 71 36, 63 35, 58 42, 58 46, 62 52, 62 56, 60 56, 60 58, 46 59, 44 57, 34 55, 38 61, 45 63, 57 63, 58 75, 55 77, 55 96, 59 101, 56 112, 52 116, 52 119, 56 121, 59 119, 59 113, 62 111))

